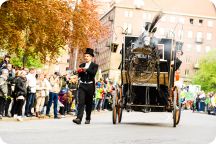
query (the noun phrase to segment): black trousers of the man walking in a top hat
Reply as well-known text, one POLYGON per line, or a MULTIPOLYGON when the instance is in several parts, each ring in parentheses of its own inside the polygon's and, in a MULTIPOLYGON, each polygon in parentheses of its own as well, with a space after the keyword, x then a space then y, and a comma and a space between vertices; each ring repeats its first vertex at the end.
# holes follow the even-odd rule
POLYGON ((78 108, 77 118, 82 120, 84 109, 86 110, 86 120, 91 120, 93 95, 95 92, 94 83, 81 83, 78 89, 78 108))

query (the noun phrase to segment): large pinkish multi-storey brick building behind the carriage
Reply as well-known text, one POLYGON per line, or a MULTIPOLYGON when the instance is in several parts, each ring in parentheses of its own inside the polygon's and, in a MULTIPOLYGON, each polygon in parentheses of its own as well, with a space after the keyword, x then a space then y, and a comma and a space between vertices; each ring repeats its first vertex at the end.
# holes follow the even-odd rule
POLYGON ((139 36, 159 11, 163 17, 155 36, 184 42, 180 75, 185 81, 197 71, 201 57, 216 49, 216 8, 211 1, 113 0, 110 10, 101 17, 111 33, 95 46, 96 62, 104 77, 119 78, 120 50, 125 36, 139 36))

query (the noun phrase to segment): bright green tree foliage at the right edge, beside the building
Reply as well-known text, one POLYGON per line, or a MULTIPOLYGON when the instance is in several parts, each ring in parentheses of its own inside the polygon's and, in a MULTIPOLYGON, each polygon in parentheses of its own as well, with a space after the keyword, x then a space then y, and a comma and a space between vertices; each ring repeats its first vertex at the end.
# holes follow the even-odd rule
POLYGON ((200 63, 193 84, 201 85, 206 92, 216 91, 216 51, 209 52, 200 63))

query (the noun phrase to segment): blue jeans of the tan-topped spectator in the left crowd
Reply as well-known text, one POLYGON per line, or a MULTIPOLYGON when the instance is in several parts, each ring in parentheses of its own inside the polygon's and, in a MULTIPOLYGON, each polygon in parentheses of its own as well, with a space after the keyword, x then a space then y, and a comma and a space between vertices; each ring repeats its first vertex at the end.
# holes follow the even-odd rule
POLYGON ((49 115, 52 102, 54 102, 54 117, 57 117, 58 116, 58 112, 57 112, 58 93, 53 93, 53 92, 49 93, 49 101, 48 101, 48 106, 47 106, 47 111, 46 111, 47 115, 49 115))

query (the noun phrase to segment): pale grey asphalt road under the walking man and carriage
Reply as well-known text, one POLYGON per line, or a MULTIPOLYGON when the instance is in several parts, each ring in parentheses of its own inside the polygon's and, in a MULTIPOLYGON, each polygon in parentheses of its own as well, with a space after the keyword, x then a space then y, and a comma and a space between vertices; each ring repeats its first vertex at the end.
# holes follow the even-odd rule
POLYGON ((90 125, 60 120, 0 121, 0 144, 214 144, 216 116, 183 111, 172 127, 171 113, 124 112, 121 124, 112 113, 92 115, 90 125))

